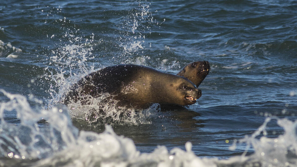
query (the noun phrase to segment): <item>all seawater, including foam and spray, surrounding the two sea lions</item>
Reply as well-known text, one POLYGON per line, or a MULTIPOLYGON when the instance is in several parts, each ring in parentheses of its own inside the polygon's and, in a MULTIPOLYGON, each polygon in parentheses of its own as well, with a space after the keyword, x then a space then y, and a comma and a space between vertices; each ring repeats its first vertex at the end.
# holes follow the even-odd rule
POLYGON ((0 40, 0 166, 297 166, 297 1, 0 1, 0 40), (195 105, 59 103, 105 66, 202 60, 195 105))

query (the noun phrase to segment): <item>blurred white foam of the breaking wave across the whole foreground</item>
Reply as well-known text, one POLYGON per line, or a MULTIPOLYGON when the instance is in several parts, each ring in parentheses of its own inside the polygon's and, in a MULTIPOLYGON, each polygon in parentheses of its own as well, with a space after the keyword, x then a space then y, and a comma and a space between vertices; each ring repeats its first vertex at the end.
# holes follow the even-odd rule
POLYGON ((239 140, 239 143, 250 143, 255 149, 255 153, 250 156, 243 154, 227 160, 197 157, 189 142, 185 143, 186 151, 180 148, 168 150, 159 146, 153 152, 140 153, 131 139, 116 135, 111 126, 105 126, 105 131, 100 134, 79 132, 72 125, 64 106, 55 106, 50 110, 38 106, 32 108, 25 96, 10 94, 4 90, 0 92, 7 97, 7 100, 2 99, 0 103, 1 156, 12 159, 41 159, 34 162, 34 166, 297 165, 297 122, 285 118, 267 118, 251 136, 239 140), (7 121, 7 115, 15 115, 17 122, 7 121), (37 124, 42 118, 46 122, 37 124), (271 119, 277 119, 278 125, 284 129, 283 135, 275 138, 265 136, 267 123, 271 119), (263 136, 257 139, 261 134, 263 136))

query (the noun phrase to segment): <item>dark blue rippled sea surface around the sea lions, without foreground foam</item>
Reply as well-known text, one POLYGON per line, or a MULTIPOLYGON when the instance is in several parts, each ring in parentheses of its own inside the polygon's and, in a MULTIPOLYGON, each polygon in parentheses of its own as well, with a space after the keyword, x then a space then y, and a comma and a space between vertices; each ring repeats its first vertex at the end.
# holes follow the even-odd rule
MULTIPOLYGON (((49 108, 46 101, 61 96, 50 79, 61 69, 65 77, 82 76, 132 63, 176 74, 187 63, 209 61, 197 104, 156 111, 147 118, 150 123, 112 124, 140 152, 152 152, 158 145, 184 149, 190 141, 197 156, 252 154, 254 149, 245 143, 235 150, 229 147, 251 135, 268 116, 297 119, 294 0, 0 1, 0 40, 0 88, 34 95, 44 108, 49 108), (62 54, 68 45, 82 48, 62 54), (83 73, 79 56, 85 50, 83 73), (53 57, 61 55, 60 63, 55 62, 53 57), (75 65, 70 67, 67 58, 75 65)), ((106 123, 73 121, 80 130, 96 133, 106 123)), ((276 122, 269 122, 268 137, 283 134, 276 122)))

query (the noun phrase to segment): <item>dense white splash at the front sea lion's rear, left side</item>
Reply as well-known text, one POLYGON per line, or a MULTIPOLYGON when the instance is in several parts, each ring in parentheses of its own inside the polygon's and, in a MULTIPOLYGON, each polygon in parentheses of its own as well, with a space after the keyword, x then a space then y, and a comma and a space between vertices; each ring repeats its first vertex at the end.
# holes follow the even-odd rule
POLYGON ((92 56, 92 47, 85 48, 84 44, 80 45, 65 45, 61 49, 53 51, 54 55, 50 57, 49 74, 42 75, 42 79, 50 80, 49 90, 47 91, 52 99, 49 101, 49 106, 59 103, 68 88, 79 80, 93 67, 87 67, 86 63, 92 56))

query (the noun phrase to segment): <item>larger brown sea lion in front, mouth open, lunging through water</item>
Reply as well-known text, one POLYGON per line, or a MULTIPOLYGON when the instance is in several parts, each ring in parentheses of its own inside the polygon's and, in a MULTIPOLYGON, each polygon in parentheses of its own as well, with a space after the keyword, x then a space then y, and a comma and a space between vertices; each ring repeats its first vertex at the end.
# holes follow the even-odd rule
POLYGON ((146 108, 153 103, 192 105, 201 90, 183 76, 167 74, 139 65, 120 64, 93 72, 71 86, 64 104, 109 93, 118 105, 146 108))

